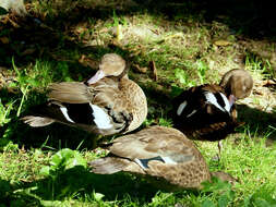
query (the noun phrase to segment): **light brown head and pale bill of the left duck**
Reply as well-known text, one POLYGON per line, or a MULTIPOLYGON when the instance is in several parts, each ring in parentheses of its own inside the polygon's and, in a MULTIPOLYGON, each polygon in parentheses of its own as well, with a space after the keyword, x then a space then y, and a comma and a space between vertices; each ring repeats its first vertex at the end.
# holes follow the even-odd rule
POLYGON ((106 76, 122 77, 124 75, 124 70, 125 61, 122 57, 117 53, 106 53, 100 60, 99 70, 86 83, 88 85, 95 84, 106 76))

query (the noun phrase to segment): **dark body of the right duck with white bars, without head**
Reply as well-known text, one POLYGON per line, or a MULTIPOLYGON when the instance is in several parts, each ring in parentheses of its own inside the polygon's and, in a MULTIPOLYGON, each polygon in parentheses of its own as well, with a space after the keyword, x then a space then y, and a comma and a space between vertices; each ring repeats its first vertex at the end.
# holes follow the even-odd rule
POLYGON ((172 100, 173 125, 191 139, 224 139, 240 125, 235 99, 217 84, 191 87, 172 100))

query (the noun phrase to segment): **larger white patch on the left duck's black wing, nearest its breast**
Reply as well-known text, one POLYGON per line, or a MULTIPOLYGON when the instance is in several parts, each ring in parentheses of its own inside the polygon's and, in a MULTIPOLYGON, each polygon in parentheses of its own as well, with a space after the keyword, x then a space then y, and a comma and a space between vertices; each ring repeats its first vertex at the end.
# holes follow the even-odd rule
POLYGON ((89 104, 93 110, 94 122, 101 130, 108 130, 112 127, 109 115, 98 106, 89 104))

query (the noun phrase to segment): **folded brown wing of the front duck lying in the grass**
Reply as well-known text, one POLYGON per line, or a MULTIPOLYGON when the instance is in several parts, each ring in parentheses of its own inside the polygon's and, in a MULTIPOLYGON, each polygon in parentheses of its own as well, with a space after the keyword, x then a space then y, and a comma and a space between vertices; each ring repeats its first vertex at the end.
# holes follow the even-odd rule
POLYGON ((201 157, 193 143, 175 129, 153 126, 135 134, 116 138, 108 147, 120 158, 148 169, 151 161, 168 165, 192 162, 201 157))

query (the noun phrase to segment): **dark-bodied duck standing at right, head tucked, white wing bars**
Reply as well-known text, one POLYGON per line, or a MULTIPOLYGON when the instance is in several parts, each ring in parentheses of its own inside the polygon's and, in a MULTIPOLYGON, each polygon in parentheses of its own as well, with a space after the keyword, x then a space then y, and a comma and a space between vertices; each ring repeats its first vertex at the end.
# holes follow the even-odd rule
POLYGON ((250 73, 236 69, 227 72, 219 85, 205 84, 182 92, 173 99, 175 127, 191 139, 226 138, 243 124, 237 121, 236 99, 248 97, 252 87, 250 73))

